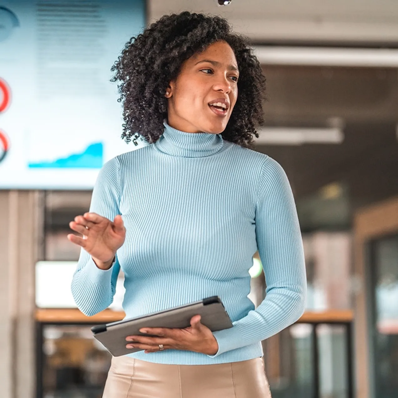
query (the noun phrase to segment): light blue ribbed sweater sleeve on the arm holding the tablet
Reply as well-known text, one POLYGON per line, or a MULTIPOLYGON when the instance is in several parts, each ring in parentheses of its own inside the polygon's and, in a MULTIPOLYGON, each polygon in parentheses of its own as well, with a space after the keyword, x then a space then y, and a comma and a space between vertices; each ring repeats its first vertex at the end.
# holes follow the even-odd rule
POLYGON ((285 171, 272 158, 263 164, 255 222, 266 297, 232 328, 213 333, 219 351, 211 357, 267 339, 304 312, 306 272, 295 201, 285 171))

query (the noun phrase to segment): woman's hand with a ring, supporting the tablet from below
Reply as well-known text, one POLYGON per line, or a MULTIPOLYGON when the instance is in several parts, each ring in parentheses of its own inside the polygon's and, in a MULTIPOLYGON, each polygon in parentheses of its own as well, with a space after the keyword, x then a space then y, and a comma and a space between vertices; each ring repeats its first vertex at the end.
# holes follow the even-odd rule
POLYGON ((201 316, 195 315, 191 318, 191 326, 185 329, 168 328, 142 328, 141 333, 154 335, 127 336, 127 348, 144 349, 145 353, 160 351, 159 345, 163 344, 164 349, 180 349, 200 352, 207 355, 215 355, 219 345, 213 333, 201 322, 201 316))

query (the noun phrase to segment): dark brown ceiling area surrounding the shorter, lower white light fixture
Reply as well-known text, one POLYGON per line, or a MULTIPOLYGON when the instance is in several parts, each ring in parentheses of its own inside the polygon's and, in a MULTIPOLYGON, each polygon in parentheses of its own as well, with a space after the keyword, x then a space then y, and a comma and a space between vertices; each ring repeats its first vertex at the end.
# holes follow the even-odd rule
POLYGON ((398 194, 398 73, 376 68, 264 68, 266 124, 343 123, 341 144, 258 145, 281 163, 297 199, 347 186, 353 209, 398 194))

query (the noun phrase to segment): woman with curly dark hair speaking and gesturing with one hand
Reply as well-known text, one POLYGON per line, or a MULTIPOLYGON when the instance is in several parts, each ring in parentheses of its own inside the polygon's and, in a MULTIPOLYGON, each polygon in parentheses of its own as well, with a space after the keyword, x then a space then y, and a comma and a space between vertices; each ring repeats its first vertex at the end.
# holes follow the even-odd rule
POLYGON ((302 314, 304 256, 281 166, 251 149, 265 79, 246 41, 217 16, 164 16, 127 43, 112 68, 124 133, 147 146, 101 169, 90 212, 70 223, 82 251, 74 299, 93 315, 125 273, 126 318, 218 295, 233 328, 141 330, 137 353, 112 359, 104 398, 270 397, 261 340, 302 314), (267 295, 255 310, 252 256, 267 295), (156 336, 156 337, 153 337, 156 336))

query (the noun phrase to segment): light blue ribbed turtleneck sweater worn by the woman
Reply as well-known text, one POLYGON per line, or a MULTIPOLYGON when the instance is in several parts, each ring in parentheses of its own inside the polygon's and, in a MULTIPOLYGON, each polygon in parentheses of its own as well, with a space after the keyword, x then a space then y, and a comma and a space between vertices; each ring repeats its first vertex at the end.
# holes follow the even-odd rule
POLYGON ((164 125, 157 142, 100 170, 90 212, 110 220, 122 215, 126 240, 107 271, 82 249, 72 281, 76 304, 86 315, 107 308, 120 269, 126 318, 219 296, 234 326, 213 333, 216 355, 165 350, 130 356, 180 365, 261 357, 261 340, 304 311, 304 254, 287 176, 269 156, 220 134, 164 125), (254 309, 248 271, 257 250, 267 289, 254 309))

